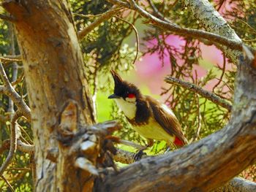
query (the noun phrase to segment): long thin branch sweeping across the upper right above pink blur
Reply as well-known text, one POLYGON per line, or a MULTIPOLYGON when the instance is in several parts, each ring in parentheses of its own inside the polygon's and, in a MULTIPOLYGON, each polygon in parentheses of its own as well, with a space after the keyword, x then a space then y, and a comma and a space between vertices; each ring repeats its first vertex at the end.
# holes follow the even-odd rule
POLYGON ((159 18, 154 17, 154 15, 151 15, 150 13, 146 12, 146 10, 142 9, 138 6, 138 4, 135 3, 133 0, 129 0, 130 3, 119 1, 119 0, 108 0, 112 4, 117 4, 122 7, 126 7, 128 9, 133 9, 136 12, 140 13, 144 18, 147 18, 150 20, 150 22, 158 26, 159 28, 168 30, 173 32, 173 34, 182 35, 184 37, 192 37, 192 38, 203 38, 207 39, 208 41, 214 43, 214 45, 225 45, 227 47, 230 47, 233 50, 243 50, 243 43, 242 42, 236 42, 232 39, 228 39, 226 37, 219 36, 217 34, 213 34, 211 32, 202 31, 198 29, 192 29, 192 28, 184 28, 181 26, 178 26, 176 23, 170 23, 165 20, 161 20, 159 18))

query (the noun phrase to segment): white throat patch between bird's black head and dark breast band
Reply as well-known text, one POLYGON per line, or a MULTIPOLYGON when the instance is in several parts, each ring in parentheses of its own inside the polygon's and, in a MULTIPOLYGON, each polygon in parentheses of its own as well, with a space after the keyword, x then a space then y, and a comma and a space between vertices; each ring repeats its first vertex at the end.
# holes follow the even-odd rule
POLYGON ((129 119, 135 118, 136 114, 136 102, 135 101, 126 101, 123 98, 115 99, 119 109, 124 112, 124 115, 129 119))

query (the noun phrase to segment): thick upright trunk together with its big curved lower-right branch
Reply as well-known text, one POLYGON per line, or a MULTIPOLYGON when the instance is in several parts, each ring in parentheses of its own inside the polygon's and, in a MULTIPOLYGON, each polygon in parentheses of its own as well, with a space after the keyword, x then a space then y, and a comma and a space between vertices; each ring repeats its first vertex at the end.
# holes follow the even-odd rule
MULTIPOLYGON (((115 150, 109 139, 99 136, 101 129, 85 126, 94 123, 93 110, 66 3, 3 2, 15 18, 29 90, 35 191, 210 191, 255 162, 256 72, 241 61, 225 128, 181 150, 106 174, 106 164, 116 169, 109 158, 115 150)), ((115 125, 102 126, 104 136, 115 129, 109 127, 115 125)))

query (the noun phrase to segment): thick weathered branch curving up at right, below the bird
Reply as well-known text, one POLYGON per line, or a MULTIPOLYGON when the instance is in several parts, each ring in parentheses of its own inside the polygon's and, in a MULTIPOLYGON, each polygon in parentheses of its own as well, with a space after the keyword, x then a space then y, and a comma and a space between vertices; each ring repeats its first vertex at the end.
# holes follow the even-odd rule
POLYGON ((108 174, 97 191, 211 191, 254 164, 256 70, 240 62, 232 117, 225 128, 167 155, 144 158, 108 174))

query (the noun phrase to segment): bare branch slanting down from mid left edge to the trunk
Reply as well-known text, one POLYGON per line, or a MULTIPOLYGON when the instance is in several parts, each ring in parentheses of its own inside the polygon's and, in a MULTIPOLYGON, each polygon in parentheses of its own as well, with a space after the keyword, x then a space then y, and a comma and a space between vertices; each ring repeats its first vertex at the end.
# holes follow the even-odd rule
POLYGON ((29 106, 25 103, 25 101, 20 97, 20 95, 15 91, 12 87, 12 84, 8 80, 7 74, 4 72, 4 67, 1 64, 0 60, 0 74, 1 78, 4 81, 5 86, 0 86, 0 92, 4 92, 7 96, 10 96, 12 101, 15 102, 19 110, 23 113, 23 115, 30 120, 31 119, 31 110, 29 106))

